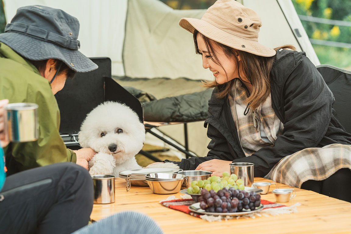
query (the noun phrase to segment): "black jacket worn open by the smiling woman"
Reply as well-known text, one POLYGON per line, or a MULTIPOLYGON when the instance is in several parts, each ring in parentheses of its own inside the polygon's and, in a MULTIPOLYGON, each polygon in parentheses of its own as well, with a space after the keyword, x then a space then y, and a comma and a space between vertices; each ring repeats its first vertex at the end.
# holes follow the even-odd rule
POLYGON ((205 120, 207 136, 211 139, 207 146, 210 151, 206 157, 173 163, 181 169, 193 170, 201 162, 211 159, 252 162, 255 165, 254 175, 263 177, 284 156, 302 149, 333 143, 351 145, 351 134, 345 132, 335 117, 332 92, 304 52, 278 51, 270 79, 272 107, 284 124, 284 131, 273 147, 261 148, 245 157, 228 99, 218 99, 215 88, 208 101, 208 117, 205 120))

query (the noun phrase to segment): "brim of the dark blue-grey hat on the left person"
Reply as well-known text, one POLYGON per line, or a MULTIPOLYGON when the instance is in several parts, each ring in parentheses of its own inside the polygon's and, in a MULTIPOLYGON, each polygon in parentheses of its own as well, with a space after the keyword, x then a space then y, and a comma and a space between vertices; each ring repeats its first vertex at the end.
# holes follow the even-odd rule
POLYGON ((78 50, 67 49, 20 33, 1 33, 0 41, 29 60, 59 59, 76 72, 90 72, 98 68, 78 50))

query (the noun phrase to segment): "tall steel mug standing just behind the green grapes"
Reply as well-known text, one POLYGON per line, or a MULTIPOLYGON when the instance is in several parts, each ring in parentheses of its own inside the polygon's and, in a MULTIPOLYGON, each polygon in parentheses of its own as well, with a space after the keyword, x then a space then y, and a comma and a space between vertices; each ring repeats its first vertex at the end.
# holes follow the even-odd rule
POLYGON ((244 181, 244 186, 251 187, 253 183, 253 163, 233 162, 230 163, 230 174, 236 174, 238 179, 244 181))

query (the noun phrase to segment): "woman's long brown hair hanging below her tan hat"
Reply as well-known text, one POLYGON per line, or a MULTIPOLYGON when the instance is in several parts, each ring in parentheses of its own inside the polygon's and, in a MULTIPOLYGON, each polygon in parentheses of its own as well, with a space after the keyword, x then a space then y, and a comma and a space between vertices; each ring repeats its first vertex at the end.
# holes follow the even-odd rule
MULTIPOLYGON (((238 69, 238 74, 240 78, 240 70, 243 71, 244 75, 247 78, 250 78, 252 84, 252 92, 250 96, 245 100, 246 103, 250 103, 249 107, 251 109, 256 109, 263 103, 271 92, 271 85, 270 85, 270 72, 274 63, 274 56, 272 57, 263 57, 255 54, 251 54, 248 52, 240 51, 229 46, 223 45, 217 41, 211 40, 198 32, 197 30, 193 33, 194 44, 195 44, 195 51, 197 54, 201 54, 197 44, 197 34, 201 35, 201 38, 204 39, 205 45, 209 55, 211 56, 211 60, 218 64, 220 67, 224 67, 221 65, 220 61, 217 58, 216 53, 214 53, 213 45, 216 45, 223 49, 223 52, 227 56, 236 63, 236 67, 238 69), (212 54, 211 54, 212 52, 212 54), (239 62, 237 56, 241 58, 241 67, 239 69, 239 62), (249 73, 250 71, 250 73, 249 73)), ((279 49, 292 49, 296 50, 295 47, 292 45, 284 45, 281 47, 277 47, 274 50, 278 51, 279 49)), ((242 80, 240 78, 240 80, 242 80)), ((204 87, 212 88, 218 87, 218 83, 216 79, 214 81, 202 81, 204 87)), ((243 81, 245 82, 245 81, 243 81)), ((229 95, 234 84, 234 79, 224 83, 221 89, 218 89, 217 97, 224 98, 225 96, 229 95)))

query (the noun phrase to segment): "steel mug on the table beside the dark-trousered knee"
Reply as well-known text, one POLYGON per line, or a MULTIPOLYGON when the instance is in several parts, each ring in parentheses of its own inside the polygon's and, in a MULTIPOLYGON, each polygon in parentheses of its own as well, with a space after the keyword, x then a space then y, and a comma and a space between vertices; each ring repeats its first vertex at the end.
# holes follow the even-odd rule
POLYGON ((94 204, 114 202, 114 175, 93 175, 94 204))

